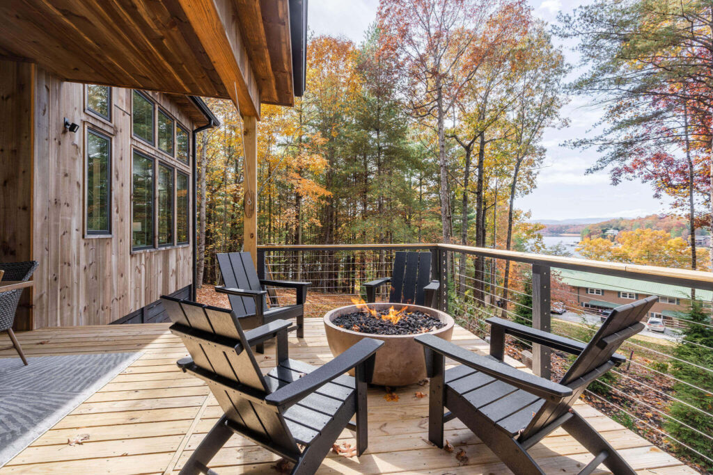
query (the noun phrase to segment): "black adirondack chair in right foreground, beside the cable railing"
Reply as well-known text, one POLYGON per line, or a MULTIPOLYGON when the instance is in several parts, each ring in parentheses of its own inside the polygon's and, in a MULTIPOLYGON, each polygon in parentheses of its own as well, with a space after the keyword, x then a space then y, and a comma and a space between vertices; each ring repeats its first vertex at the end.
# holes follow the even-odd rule
POLYGON ((615 351, 645 327, 640 320, 655 301, 651 296, 615 308, 587 345, 502 318, 486 320, 491 324, 489 357, 434 335, 419 335, 431 377, 429 439, 443 447, 443 423, 457 417, 515 474, 542 474, 528 449, 562 427, 595 456, 580 474, 590 474, 602 463, 615 474, 635 474, 571 407, 590 382, 625 361, 615 351), (516 370, 503 362, 506 334, 578 355, 577 360, 560 382, 516 370), (445 371, 445 357, 461 365, 445 371))

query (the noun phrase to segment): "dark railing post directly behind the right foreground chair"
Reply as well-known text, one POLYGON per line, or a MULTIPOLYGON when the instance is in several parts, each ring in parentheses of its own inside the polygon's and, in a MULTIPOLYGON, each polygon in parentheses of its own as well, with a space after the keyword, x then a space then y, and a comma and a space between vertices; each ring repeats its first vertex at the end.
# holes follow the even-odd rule
MULTIPOLYGON (((552 331, 550 267, 533 264, 533 328, 552 331)), ((550 348, 533 343, 533 372, 550 379, 550 348)))

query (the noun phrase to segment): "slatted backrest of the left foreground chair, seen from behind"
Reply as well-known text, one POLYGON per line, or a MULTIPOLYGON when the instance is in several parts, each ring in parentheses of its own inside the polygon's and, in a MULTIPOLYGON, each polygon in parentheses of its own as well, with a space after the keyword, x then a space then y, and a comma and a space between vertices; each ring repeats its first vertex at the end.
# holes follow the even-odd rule
POLYGON ((270 392, 240 323, 230 310, 162 297, 173 325, 232 427, 265 447, 299 454, 277 407, 260 404, 270 392))

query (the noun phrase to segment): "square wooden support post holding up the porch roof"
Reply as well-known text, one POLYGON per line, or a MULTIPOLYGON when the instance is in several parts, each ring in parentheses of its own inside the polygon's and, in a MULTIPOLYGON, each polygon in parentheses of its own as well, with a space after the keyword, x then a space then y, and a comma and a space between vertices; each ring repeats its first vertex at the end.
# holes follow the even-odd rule
POLYGON ((245 127, 242 134, 245 151, 245 181, 243 182, 243 243, 244 250, 257 265, 257 118, 242 118, 245 127))

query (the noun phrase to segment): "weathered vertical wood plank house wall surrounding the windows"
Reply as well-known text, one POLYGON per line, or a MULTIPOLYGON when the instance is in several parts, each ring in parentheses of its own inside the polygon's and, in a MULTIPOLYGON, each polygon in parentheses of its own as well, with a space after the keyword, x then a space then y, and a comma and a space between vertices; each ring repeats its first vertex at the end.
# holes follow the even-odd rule
MULTIPOLYGON (((36 66, 0 61, 3 92, 7 83, 18 90, 0 96, 0 148, 14 144, 0 154, 0 226, 12 228, 1 231, 0 258, 39 261, 34 318, 19 313, 17 328, 107 324, 190 285, 190 245, 130 250, 132 149, 190 176, 189 165, 131 137, 131 91, 112 89, 110 123, 86 113, 83 85, 58 80, 36 66), (78 132, 66 132, 63 118, 80 125, 78 132), (112 138, 111 237, 85 235, 84 145, 90 126, 112 138)), ((183 108, 165 95, 150 96, 193 130, 183 108)))

